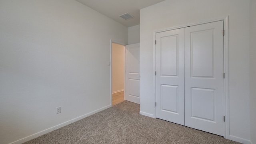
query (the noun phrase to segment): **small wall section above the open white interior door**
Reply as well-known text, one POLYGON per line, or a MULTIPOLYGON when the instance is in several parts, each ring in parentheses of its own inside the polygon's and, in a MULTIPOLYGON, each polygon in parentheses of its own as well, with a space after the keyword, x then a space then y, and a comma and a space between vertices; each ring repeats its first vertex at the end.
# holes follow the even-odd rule
POLYGON ((128 28, 128 44, 140 43, 140 25, 128 28))

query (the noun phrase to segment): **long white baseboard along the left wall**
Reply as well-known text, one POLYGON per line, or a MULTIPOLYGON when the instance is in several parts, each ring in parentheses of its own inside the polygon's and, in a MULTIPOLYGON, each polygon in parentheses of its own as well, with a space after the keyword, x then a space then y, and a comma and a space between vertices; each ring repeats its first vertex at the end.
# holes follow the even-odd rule
POLYGON ((11 142, 10 144, 22 144, 22 143, 24 143, 24 142, 27 142, 27 141, 32 140, 32 139, 34 139, 34 138, 37 138, 38 136, 42 136, 42 135, 44 135, 44 134, 47 134, 48 132, 52 132, 52 131, 57 130, 58 128, 62 128, 63 126, 66 126, 66 125, 68 125, 68 124, 72 124, 73 122, 76 122, 76 121, 78 121, 78 120, 81 120, 81 119, 83 119, 83 118, 86 118, 86 117, 88 117, 88 116, 90 116, 90 115, 92 115, 92 114, 96 114, 97 112, 100 112, 100 111, 105 110, 105 109, 110 108, 110 107, 111 107, 111 105, 108 105, 108 106, 105 106, 105 107, 100 108, 100 109, 98 109, 98 110, 94 110, 93 112, 89 112, 88 114, 84 114, 84 115, 79 116, 79 117, 77 117, 77 118, 74 118, 74 119, 72 119, 72 120, 68 120, 68 121, 66 121, 66 122, 63 122, 62 124, 58 124, 58 125, 56 125, 56 126, 53 126, 53 127, 51 127, 51 128, 48 128, 48 129, 43 130, 43 131, 41 131, 41 132, 38 132, 38 133, 32 134, 32 135, 30 135, 30 136, 27 136, 27 137, 25 137, 25 138, 22 138, 22 139, 20 139, 20 140, 17 140, 17 141, 15 141, 15 142, 11 142))

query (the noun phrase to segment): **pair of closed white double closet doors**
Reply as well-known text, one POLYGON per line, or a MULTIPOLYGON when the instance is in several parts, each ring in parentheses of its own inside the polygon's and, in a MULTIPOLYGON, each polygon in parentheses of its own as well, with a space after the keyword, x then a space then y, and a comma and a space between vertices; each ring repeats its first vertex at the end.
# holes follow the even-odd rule
POLYGON ((223 21, 156 34, 156 118, 224 136, 223 21))

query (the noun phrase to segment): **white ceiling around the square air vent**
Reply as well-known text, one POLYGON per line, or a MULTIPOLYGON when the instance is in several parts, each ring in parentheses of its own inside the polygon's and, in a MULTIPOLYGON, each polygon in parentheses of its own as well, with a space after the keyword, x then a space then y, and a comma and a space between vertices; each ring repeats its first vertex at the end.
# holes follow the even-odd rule
POLYGON ((76 0, 109 18, 131 27, 140 24, 140 9, 164 0, 76 0), (134 18, 124 20, 119 16, 129 12, 134 18))

